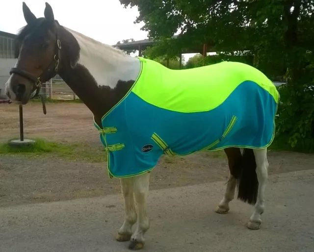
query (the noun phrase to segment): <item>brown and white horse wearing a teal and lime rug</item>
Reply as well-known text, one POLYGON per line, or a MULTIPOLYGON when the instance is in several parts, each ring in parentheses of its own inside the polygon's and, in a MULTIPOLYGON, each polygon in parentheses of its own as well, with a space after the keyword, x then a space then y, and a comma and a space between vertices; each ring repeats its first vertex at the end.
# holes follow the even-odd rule
POLYGON ((117 241, 129 241, 130 250, 144 247, 150 171, 163 154, 224 150, 229 179, 216 212, 229 212, 237 187, 237 198, 254 205, 247 227, 261 227, 279 101, 264 74, 238 62, 170 70, 60 25, 47 2, 44 17, 36 18, 25 2, 23 13, 26 26, 16 38, 18 60, 6 94, 26 104, 58 74, 90 109, 109 176, 120 179, 124 197, 117 241))

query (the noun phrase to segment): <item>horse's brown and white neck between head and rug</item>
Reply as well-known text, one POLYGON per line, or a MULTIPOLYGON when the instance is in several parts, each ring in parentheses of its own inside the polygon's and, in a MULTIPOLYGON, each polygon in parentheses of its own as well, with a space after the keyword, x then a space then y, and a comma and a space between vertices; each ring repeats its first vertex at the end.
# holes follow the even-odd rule
POLYGON ((71 32, 79 44, 79 60, 75 67, 65 65, 59 75, 92 111, 96 123, 101 126, 105 113, 131 89, 140 73, 140 61, 71 32))

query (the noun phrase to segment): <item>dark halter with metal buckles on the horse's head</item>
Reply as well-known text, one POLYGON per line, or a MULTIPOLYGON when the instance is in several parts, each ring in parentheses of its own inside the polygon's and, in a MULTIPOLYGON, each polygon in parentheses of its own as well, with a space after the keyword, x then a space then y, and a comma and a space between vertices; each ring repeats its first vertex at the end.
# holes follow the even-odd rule
MULTIPOLYGON (((39 96, 38 94, 39 94, 42 82, 48 81, 53 76, 55 76, 58 72, 58 67, 59 67, 59 62, 60 62, 59 53, 61 50, 61 42, 60 42, 59 37, 58 37, 58 22, 56 21, 56 23, 57 23, 57 31, 56 31, 56 43, 55 43, 55 48, 54 48, 54 56, 53 56, 51 63, 48 65, 46 70, 43 71, 41 76, 39 76, 39 77, 33 76, 32 74, 28 73, 27 71, 25 71, 23 69, 16 68, 16 67, 13 67, 10 69, 10 75, 16 74, 16 75, 25 77, 26 79, 28 79, 34 83, 34 89, 33 90, 36 90, 36 94, 34 97, 39 96)), ((45 106, 45 103, 44 103, 42 96, 41 96, 41 100, 43 103, 44 114, 46 115, 46 106, 45 106)))

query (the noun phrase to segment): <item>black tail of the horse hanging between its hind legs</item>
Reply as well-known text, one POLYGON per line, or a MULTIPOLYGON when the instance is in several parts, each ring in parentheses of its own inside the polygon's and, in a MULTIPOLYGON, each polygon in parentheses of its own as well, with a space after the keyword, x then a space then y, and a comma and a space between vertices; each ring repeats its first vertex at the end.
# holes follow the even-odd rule
POLYGON ((259 181, 256 174, 256 161, 253 149, 243 150, 241 158, 238 158, 238 162, 233 167, 232 175, 237 179, 237 198, 243 202, 255 204, 259 181))

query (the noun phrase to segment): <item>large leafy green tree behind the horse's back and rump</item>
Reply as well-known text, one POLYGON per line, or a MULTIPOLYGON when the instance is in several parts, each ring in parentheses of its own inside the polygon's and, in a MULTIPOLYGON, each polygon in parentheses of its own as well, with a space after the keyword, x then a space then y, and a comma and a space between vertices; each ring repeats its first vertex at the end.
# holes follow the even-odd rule
POLYGON ((152 49, 155 56, 176 56, 203 43, 224 54, 250 50, 252 65, 270 79, 288 80, 280 88, 277 137, 288 136, 291 146, 311 140, 314 147, 313 0, 120 2, 125 7, 137 5, 135 23, 143 21, 149 37, 161 41, 152 49), (171 39, 175 33, 178 37, 171 39))

